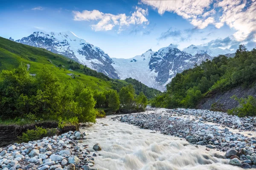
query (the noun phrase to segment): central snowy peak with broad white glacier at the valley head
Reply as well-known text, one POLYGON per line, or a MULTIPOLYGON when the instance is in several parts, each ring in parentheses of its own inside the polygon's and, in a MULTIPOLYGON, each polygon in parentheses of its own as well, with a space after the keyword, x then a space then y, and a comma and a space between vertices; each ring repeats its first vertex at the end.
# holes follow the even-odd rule
POLYGON ((132 77, 145 85, 164 91, 172 78, 184 69, 192 68, 200 57, 193 57, 180 51, 175 45, 161 48, 157 52, 151 49, 131 59, 113 58, 113 67, 121 79, 132 77))

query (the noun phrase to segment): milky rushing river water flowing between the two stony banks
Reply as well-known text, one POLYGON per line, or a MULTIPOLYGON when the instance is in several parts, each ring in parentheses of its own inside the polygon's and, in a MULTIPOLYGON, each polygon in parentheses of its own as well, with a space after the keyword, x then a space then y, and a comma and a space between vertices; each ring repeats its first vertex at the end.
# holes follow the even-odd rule
POLYGON ((228 159, 214 157, 216 150, 197 148, 185 139, 152 133, 111 117, 97 119, 93 126, 80 129, 88 133, 81 145, 102 146, 97 152, 100 156, 95 158, 99 170, 242 170, 229 165, 228 159))

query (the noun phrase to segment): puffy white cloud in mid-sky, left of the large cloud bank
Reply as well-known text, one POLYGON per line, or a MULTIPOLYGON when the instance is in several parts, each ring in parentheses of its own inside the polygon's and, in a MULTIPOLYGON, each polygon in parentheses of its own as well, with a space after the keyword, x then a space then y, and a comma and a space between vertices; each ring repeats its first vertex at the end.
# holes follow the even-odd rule
POLYGON ((124 26, 129 25, 147 25, 148 10, 136 7, 136 10, 131 16, 126 14, 105 14, 98 10, 93 11, 73 11, 74 20, 76 21, 96 21, 96 24, 91 25, 94 31, 108 31, 112 30, 115 26, 119 26, 118 31, 122 31, 124 26))

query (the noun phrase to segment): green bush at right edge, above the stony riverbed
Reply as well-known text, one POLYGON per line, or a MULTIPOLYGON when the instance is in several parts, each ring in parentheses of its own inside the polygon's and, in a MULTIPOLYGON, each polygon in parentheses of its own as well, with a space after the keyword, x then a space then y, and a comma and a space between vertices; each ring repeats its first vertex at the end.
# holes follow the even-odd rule
POLYGON ((253 96, 240 99, 237 96, 232 96, 231 98, 238 101, 239 106, 228 110, 227 113, 237 115, 239 117, 256 116, 256 99, 253 96))

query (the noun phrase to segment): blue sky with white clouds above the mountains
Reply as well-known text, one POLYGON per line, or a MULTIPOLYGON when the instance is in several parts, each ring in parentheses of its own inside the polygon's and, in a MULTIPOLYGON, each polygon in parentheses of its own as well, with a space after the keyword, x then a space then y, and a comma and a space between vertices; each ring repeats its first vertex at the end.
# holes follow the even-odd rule
POLYGON ((0 0, 0 36, 72 31, 110 57, 256 45, 256 0, 0 0))

